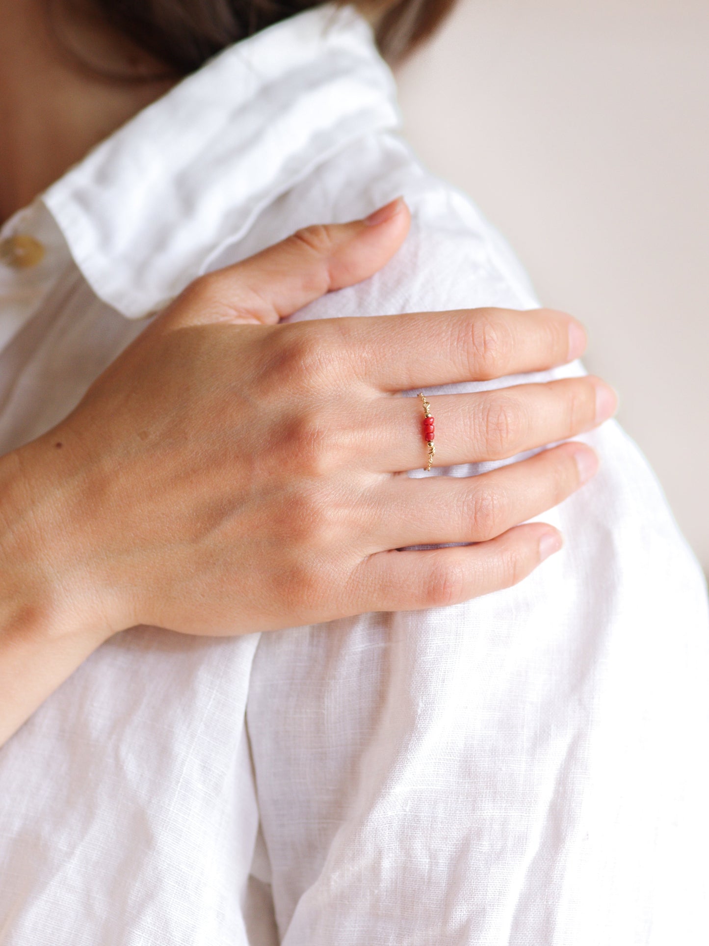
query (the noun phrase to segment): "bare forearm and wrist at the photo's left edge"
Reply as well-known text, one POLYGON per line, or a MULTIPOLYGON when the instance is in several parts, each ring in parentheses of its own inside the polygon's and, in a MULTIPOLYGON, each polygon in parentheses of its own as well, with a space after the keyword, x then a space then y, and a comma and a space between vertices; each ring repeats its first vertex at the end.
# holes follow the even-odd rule
POLYGON ((67 587, 72 550, 43 448, 0 458, 0 745, 111 634, 67 587))

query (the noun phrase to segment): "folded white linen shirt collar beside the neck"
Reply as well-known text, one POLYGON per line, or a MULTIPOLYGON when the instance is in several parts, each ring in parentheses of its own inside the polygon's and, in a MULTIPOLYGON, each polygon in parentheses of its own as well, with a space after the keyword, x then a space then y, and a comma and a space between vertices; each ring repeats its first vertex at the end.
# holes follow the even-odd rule
POLYGON ((128 318, 173 298, 260 210, 363 134, 399 124, 353 9, 307 10, 235 44, 43 195, 95 293, 128 318))

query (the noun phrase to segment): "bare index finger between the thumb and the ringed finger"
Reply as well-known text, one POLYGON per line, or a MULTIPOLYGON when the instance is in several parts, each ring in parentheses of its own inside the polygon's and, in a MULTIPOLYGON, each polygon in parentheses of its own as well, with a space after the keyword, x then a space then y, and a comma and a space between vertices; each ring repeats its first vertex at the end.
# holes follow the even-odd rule
POLYGON ((582 326, 549 308, 333 319, 320 323, 325 328, 354 377, 381 391, 545 371, 579 358, 586 346, 582 326))

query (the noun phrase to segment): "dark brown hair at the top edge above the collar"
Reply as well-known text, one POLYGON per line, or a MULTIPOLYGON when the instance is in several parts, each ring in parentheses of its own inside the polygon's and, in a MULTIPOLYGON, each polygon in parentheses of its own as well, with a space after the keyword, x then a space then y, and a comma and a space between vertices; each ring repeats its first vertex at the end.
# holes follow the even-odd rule
MULTIPOLYGON (((178 76, 226 46, 322 0, 92 0, 107 24, 178 76)), ((340 0, 342 2, 342 0, 340 0)), ((390 60, 404 57, 439 26, 456 0, 355 0, 372 18, 390 60)))

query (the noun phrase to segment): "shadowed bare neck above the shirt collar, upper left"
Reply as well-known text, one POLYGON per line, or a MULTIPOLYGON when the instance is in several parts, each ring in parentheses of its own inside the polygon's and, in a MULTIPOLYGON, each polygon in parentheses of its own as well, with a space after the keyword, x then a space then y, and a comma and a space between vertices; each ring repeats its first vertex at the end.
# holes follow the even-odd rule
POLYGON ((72 13, 64 26, 74 47, 101 63, 104 74, 95 73, 62 47, 49 7, 0 0, 0 223, 172 84, 107 78, 155 75, 160 66, 100 21, 72 13))

